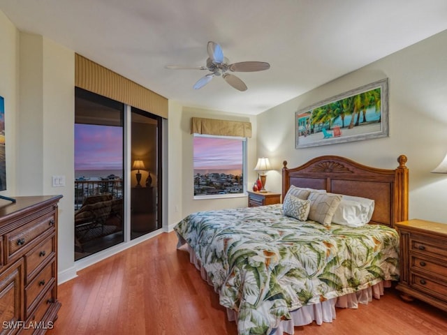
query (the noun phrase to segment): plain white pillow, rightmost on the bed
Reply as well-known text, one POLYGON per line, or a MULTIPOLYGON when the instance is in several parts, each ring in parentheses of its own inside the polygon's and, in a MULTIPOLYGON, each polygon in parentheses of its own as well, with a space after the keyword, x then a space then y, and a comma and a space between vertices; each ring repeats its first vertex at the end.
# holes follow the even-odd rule
POLYGON ((362 227, 371 221, 373 212, 374 200, 343 195, 332 222, 348 227, 362 227))

